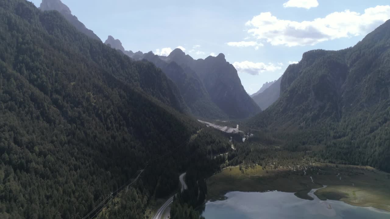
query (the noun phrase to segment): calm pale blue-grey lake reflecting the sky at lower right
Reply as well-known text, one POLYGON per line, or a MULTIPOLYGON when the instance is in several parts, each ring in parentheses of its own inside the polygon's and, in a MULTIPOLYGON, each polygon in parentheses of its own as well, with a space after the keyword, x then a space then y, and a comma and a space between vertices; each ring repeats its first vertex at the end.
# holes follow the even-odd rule
POLYGON ((226 200, 207 202, 202 215, 206 219, 390 219, 390 213, 376 208, 348 205, 342 201, 322 201, 313 193, 313 201, 294 193, 230 192, 226 200))

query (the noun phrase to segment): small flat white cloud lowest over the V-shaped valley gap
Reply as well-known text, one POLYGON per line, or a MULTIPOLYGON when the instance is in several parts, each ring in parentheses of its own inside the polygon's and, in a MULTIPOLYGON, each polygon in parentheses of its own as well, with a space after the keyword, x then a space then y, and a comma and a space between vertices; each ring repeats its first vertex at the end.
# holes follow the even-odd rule
POLYGON ((237 69, 238 72, 245 72, 252 75, 259 75, 263 72, 275 72, 282 69, 282 67, 275 65, 273 63, 265 64, 263 62, 234 62, 233 66, 237 69))

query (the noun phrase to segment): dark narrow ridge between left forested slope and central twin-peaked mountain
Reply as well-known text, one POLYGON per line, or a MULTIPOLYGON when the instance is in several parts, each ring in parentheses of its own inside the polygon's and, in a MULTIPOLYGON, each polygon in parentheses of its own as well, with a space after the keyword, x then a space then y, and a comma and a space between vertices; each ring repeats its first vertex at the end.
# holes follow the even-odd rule
POLYGON ((161 68, 180 90, 192 115, 202 118, 221 119, 227 115, 213 103, 202 81, 189 67, 183 68, 176 62, 165 62, 152 52, 143 57, 161 68))

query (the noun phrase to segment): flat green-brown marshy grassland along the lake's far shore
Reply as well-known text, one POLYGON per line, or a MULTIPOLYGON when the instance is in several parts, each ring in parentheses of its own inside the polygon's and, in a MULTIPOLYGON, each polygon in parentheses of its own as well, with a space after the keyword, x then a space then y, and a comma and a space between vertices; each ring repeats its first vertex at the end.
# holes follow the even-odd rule
POLYGON ((271 170, 266 167, 263 170, 262 167, 256 166, 239 171, 238 167, 227 167, 207 179, 207 202, 225 200, 225 194, 231 191, 281 191, 311 200, 314 197, 309 193, 316 189, 312 195, 323 201, 342 201, 348 205, 372 207, 390 213, 388 173, 365 166, 338 166, 340 167, 318 164, 303 169, 302 173, 301 170, 291 171, 285 168, 271 170))

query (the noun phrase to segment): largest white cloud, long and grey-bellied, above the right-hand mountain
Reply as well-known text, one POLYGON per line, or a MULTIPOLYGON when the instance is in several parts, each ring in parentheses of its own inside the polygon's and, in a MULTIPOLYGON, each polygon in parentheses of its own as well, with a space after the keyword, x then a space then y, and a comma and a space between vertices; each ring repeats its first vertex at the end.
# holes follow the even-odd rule
POLYGON ((363 14, 346 10, 302 22, 278 19, 271 12, 264 12, 254 16, 245 25, 250 27, 248 33, 272 45, 306 46, 365 35, 388 19, 390 5, 378 5, 365 9, 363 14))

